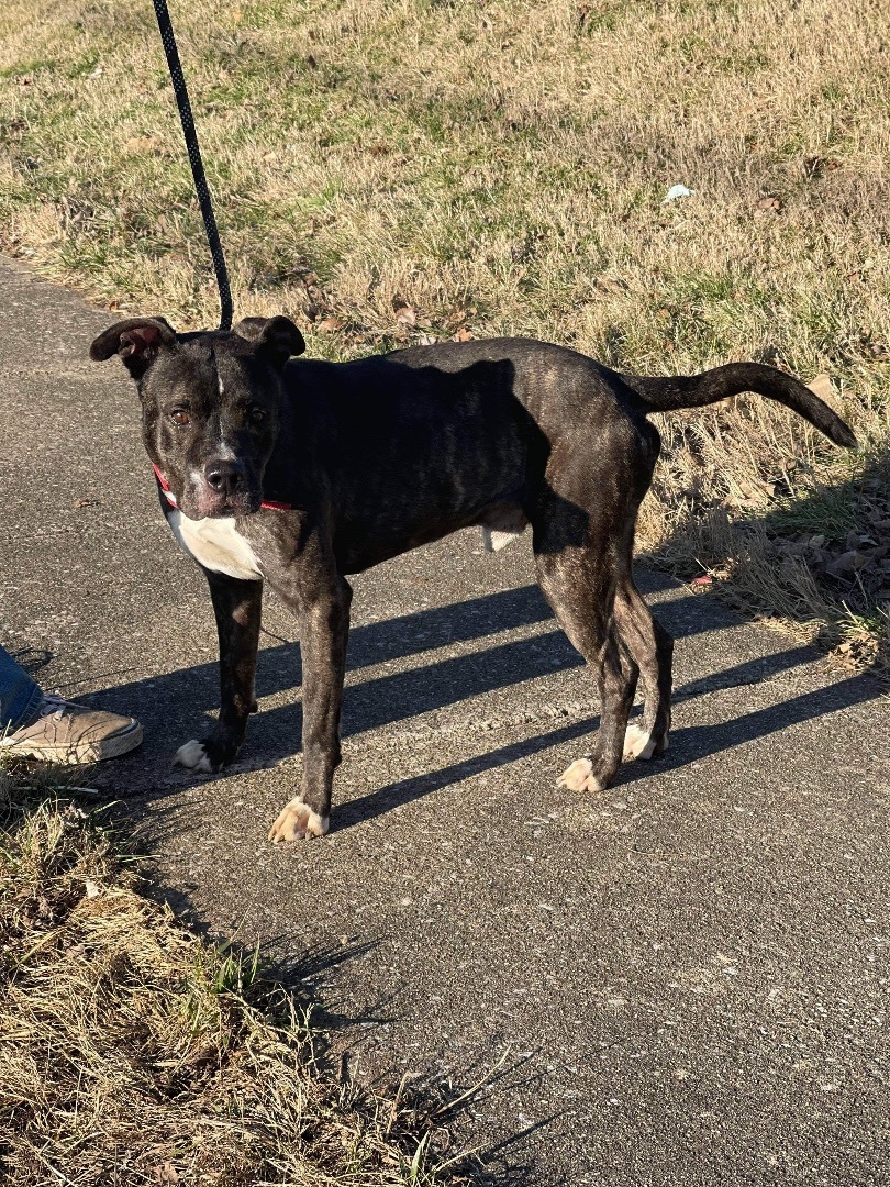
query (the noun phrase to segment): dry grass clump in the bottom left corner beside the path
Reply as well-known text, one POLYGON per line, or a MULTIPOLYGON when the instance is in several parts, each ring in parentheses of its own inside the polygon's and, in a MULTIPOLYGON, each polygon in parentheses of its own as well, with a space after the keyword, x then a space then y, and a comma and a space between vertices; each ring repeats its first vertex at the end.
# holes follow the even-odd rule
POLYGON ((147 897, 100 821, 0 770, 4 1183, 468 1181, 445 1107, 326 1072, 294 990, 147 897))

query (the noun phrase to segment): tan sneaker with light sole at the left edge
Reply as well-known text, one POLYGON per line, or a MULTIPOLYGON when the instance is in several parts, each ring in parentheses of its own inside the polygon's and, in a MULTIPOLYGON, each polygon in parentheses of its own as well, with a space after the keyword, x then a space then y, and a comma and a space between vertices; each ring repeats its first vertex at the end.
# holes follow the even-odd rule
POLYGON ((0 750, 17 757, 76 767, 116 758, 141 741, 142 726, 134 717, 106 713, 46 696, 37 721, 0 737, 0 750))

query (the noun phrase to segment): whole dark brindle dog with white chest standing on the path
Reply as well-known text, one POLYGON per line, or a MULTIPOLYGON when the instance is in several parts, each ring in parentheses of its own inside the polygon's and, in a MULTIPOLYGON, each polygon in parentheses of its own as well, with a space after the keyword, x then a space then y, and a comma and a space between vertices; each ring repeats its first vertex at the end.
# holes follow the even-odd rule
POLYGON ((653 758, 668 744, 673 641, 631 572, 661 444, 649 413, 756 392, 835 444, 856 445, 799 380, 758 363, 655 379, 526 338, 345 363, 297 357, 304 350, 286 317, 182 335, 161 317, 129 318, 90 348, 94 360, 116 354, 138 385, 161 508, 203 570, 216 615, 218 721, 180 747, 176 763, 217 772, 244 740, 263 582, 298 618, 303 780, 273 842, 329 829, 348 575, 471 525, 491 548, 530 525, 540 586, 602 700, 590 751, 560 783, 598 792, 624 758, 653 758), (628 726, 640 675, 642 721, 628 726))

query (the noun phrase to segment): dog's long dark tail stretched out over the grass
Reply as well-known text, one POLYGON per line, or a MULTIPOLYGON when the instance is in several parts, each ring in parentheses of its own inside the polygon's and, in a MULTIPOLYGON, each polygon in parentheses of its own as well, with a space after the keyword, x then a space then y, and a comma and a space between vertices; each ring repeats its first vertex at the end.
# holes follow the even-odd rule
POLYGON ((805 387, 800 380, 763 363, 727 363, 701 375, 675 375, 654 379, 643 375, 622 375, 627 386, 653 412, 673 408, 700 408, 740 392, 757 392, 815 425, 835 445, 857 444, 852 429, 825 401, 805 387))

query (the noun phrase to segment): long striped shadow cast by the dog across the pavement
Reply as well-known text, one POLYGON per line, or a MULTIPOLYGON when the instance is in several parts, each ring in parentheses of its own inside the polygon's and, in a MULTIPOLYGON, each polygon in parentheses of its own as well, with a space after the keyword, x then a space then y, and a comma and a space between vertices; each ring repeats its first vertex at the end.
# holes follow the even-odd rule
MULTIPOLYGON (((651 573, 647 575, 648 592, 668 584, 653 578, 651 573)), ((738 622, 716 601, 695 595, 665 602, 656 608, 656 612, 676 639, 705 631, 717 633, 738 622)), ((547 629, 549 620, 552 612, 538 586, 526 585, 355 628, 350 634, 348 673, 364 668, 379 671, 369 679, 356 683, 350 683, 348 677, 343 709, 344 736, 408 721, 418 715, 554 672, 581 667, 584 661, 555 623, 552 629, 547 629), (507 639, 469 653, 449 654, 438 659, 431 655, 428 662, 419 666, 387 671, 389 664, 409 661, 414 655, 473 643, 528 627, 538 628, 530 637, 507 639)), ((674 691, 674 700, 682 702, 720 688, 759 683, 819 658, 821 653, 815 647, 794 646, 680 685, 674 691)), ((294 697, 298 697, 300 679, 298 645, 282 643, 261 650, 256 680, 261 700, 288 690, 293 690, 294 697)), ((581 696, 589 696, 591 690, 592 685, 585 685, 581 696)), ((778 732, 794 723, 872 700, 879 694, 881 688, 875 680, 857 674, 719 724, 681 726, 672 734, 670 750, 659 761, 657 769, 676 769, 706 754, 732 749, 778 732)), ((145 755, 136 754, 122 761, 117 767, 120 774, 115 776, 133 779, 136 786, 142 783, 139 789, 150 796, 167 794, 171 787, 180 782, 174 780, 171 783, 167 767, 170 754, 182 741, 201 731, 198 717, 202 712, 209 715, 217 707, 217 665, 205 664, 120 685, 96 694, 91 700, 97 706, 139 716, 148 740, 170 738, 163 751, 155 743, 157 758, 150 757, 150 769, 145 769, 145 755)), ((337 827, 373 819, 396 805, 419 799, 449 783, 589 736, 597 724, 596 717, 572 721, 439 770, 389 783, 341 804, 337 827)), ((252 718, 248 743, 234 769, 268 768, 297 754, 300 728, 301 705, 298 699, 261 711, 252 718)), ((649 764, 625 764, 619 781, 636 782, 647 777, 650 770, 653 768, 649 764)), ((225 774, 223 772, 210 776, 206 781, 223 779, 225 774)), ((183 775, 182 782, 190 779, 191 776, 183 775)))

